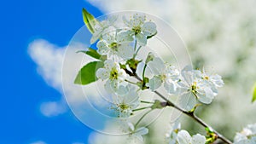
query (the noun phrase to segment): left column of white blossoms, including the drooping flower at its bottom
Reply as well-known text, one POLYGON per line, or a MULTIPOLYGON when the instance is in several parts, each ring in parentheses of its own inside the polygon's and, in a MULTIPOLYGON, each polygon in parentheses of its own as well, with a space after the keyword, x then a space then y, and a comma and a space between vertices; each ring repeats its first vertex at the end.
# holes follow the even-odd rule
MULTIPOLYGON (((108 20, 96 20, 95 32, 92 34, 90 43, 98 41, 97 53, 107 56, 104 66, 96 71, 96 77, 105 82, 104 88, 113 95, 111 109, 119 118, 128 118, 133 114, 133 110, 139 107, 140 100, 138 88, 128 80, 130 76, 125 72, 127 67, 125 65, 127 60, 135 60, 137 51, 145 46, 148 37, 153 37, 157 31, 154 22, 146 21, 144 14, 134 14, 130 20, 123 17, 126 26, 123 29, 115 26, 116 20, 118 16, 112 16, 108 20), (121 66, 121 62, 117 61, 125 63, 123 64, 125 68, 121 66)), ((143 141, 142 135, 146 135, 148 129, 135 128, 131 122, 127 125, 126 132, 129 132, 131 137, 143 141)))

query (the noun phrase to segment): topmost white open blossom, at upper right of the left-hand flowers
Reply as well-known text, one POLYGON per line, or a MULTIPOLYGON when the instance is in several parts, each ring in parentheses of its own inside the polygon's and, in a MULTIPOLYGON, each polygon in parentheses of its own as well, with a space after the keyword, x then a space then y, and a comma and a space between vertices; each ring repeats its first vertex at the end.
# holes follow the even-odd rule
POLYGON ((146 16, 144 14, 133 14, 130 20, 126 20, 125 17, 123 20, 125 25, 130 28, 128 32, 136 37, 140 45, 146 45, 147 37, 156 33, 156 25, 151 21, 145 22, 146 16))

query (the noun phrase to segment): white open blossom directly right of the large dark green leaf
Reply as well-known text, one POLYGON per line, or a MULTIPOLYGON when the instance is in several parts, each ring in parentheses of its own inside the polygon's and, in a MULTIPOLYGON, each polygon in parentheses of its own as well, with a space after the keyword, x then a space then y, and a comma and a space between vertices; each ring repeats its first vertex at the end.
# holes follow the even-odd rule
POLYGON ((104 67, 96 71, 96 77, 102 80, 107 79, 105 89, 110 93, 115 92, 119 94, 122 93, 121 90, 123 90, 121 89, 121 84, 125 83, 125 78, 128 76, 125 70, 120 68, 119 63, 113 60, 106 60, 104 67))

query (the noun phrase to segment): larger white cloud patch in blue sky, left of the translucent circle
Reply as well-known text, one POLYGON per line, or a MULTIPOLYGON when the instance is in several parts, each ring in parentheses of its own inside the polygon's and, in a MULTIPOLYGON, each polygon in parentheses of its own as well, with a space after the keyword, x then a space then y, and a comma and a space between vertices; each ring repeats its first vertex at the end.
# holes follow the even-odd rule
POLYGON ((38 65, 38 72, 45 82, 61 90, 61 67, 65 49, 37 39, 29 44, 28 53, 38 65))

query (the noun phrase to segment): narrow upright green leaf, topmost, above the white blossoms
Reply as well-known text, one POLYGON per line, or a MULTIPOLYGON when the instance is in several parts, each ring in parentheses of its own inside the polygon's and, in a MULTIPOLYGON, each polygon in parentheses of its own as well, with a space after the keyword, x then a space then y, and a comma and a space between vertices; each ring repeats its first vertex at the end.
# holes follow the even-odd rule
POLYGON ((95 17, 83 8, 84 24, 87 26, 90 33, 94 33, 94 26, 96 25, 95 17))

